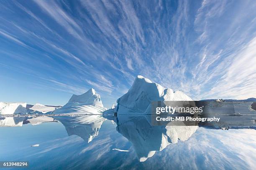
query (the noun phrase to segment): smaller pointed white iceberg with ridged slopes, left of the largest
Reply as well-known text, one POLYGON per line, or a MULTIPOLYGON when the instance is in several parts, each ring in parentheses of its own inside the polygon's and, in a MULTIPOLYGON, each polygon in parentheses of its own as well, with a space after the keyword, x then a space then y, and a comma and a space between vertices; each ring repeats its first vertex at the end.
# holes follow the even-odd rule
POLYGON ((82 95, 72 95, 69 102, 53 114, 102 114, 105 110, 100 95, 91 88, 82 95))

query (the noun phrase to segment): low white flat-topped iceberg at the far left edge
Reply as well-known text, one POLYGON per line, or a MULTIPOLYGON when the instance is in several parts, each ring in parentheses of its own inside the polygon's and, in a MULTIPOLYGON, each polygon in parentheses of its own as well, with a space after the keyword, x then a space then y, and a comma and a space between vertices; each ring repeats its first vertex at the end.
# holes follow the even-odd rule
POLYGON ((13 114, 26 114, 27 103, 7 103, 0 102, 0 114, 13 115, 13 114))

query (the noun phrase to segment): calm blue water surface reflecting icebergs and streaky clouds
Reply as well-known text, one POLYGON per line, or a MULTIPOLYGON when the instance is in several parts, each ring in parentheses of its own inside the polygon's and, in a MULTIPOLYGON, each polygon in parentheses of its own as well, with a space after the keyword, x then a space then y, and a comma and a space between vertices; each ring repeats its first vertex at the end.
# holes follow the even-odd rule
POLYGON ((0 160, 28 161, 31 170, 253 169, 256 164, 253 129, 151 126, 145 116, 123 116, 17 119, 17 127, 0 127, 1 138, 8 139, 0 140, 0 160))

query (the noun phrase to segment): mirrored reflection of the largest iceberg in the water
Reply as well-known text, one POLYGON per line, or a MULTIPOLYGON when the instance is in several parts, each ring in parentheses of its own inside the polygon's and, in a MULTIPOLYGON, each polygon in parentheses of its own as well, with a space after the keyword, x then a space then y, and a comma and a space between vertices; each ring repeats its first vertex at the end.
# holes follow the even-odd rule
POLYGON ((186 126, 183 122, 155 126, 151 124, 151 115, 118 115, 116 117, 103 115, 103 117, 116 123, 116 130, 133 144, 140 162, 152 157, 156 151, 164 150, 171 143, 188 140, 198 128, 197 125, 186 126))

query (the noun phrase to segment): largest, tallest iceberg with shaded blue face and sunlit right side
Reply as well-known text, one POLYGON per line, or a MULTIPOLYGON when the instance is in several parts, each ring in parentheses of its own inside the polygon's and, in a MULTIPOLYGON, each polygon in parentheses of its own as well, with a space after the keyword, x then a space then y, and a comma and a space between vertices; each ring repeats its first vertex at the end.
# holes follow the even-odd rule
POLYGON ((103 114, 113 114, 116 110, 118 114, 151 114, 152 101, 192 101, 192 99, 181 91, 174 92, 138 75, 128 92, 117 100, 117 107, 103 114))

